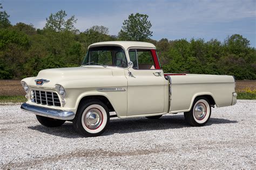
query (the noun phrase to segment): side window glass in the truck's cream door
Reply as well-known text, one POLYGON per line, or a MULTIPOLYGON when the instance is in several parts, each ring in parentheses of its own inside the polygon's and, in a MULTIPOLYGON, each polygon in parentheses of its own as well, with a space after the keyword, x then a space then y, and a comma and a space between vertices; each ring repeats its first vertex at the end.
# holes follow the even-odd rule
POLYGON ((134 69, 155 69, 153 55, 150 50, 137 49, 129 51, 134 69))

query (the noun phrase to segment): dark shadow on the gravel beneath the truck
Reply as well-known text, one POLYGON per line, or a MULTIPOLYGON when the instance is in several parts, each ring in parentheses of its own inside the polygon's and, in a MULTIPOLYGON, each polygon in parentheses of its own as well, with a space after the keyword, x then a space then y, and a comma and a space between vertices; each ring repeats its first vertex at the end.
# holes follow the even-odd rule
MULTIPOLYGON (((237 121, 230 121, 223 118, 210 118, 205 126, 212 124, 230 124, 238 123, 237 121)), ((132 133, 152 130, 165 130, 165 129, 179 129, 190 128, 191 126, 185 123, 183 115, 163 116, 159 119, 147 118, 127 118, 127 119, 110 119, 109 128, 102 134, 102 136, 109 136, 114 133, 132 133)), ((31 130, 36 130, 43 133, 48 133, 54 136, 63 138, 81 138, 74 129, 70 122, 63 124, 58 128, 47 128, 43 125, 29 126, 31 130)), ((192 127, 191 127, 192 128, 192 127)))

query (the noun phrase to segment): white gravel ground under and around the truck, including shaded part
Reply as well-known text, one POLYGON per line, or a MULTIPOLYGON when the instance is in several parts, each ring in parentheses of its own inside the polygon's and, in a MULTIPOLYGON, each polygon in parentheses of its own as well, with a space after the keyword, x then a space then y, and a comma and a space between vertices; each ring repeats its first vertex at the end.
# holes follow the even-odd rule
POLYGON ((100 137, 67 122, 46 128, 19 105, 0 105, 0 168, 256 168, 256 101, 215 108, 204 127, 183 114, 110 120, 100 137))

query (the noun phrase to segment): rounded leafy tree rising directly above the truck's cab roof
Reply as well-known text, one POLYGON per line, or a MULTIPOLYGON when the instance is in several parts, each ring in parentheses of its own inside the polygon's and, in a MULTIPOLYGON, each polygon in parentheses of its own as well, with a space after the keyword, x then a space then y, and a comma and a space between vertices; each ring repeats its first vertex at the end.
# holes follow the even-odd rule
POLYGON ((119 38, 122 40, 131 41, 144 41, 152 36, 150 28, 151 22, 147 20, 149 16, 140 13, 133 13, 124 20, 121 31, 119 32, 119 38))

